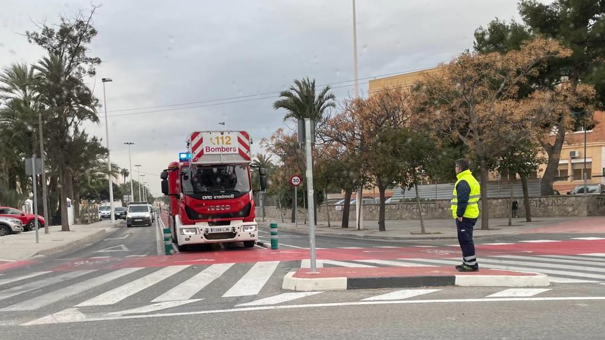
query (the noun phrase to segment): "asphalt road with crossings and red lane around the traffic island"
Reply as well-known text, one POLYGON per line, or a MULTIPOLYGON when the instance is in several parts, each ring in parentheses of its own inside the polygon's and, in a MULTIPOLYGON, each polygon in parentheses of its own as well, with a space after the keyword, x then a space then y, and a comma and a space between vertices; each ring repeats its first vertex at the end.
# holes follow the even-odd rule
MULTIPOLYGON (((260 235, 269 239, 267 233, 260 235)), ((480 243, 538 247, 522 241, 601 235, 508 235, 482 238, 480 243)), ((574 272, 575 276, 561 275, 567 283, 546 289, 282 290, 283 276, 298 269, 301 261, 277 256, 304 252, 308 242, 307 235, 280 232, 278 252, 214 246, 166 257, 157 255, 154 227, 126 228, 122 222, 101 240, 1 273, 0 339, 597 339, 605 331, 605 257, 600 255, 532 257, 531 264, 486 258, 495 266, 499 265, 495 261, 519 261, 523 266, 574 272), (171 262, 164 263, 166 259, 171 262), (589 280, 577 283, 583 275, 590 275, 589 280), (11 281, 19 277, 22 280, 11 281), (384 298, 395 292, 407 297, 384 298)), ((601 241, 577 242, 594 247, 601 241)), ((318 247, 334 252, 373 249, 368 251, 388 254, 400 247, 433 246, 406 249, 418 249, 419 254, 451 249, 456 257, 459 250, 447 246, 452 243, 317 237, 318 247)), ((355 262, 361 263, 356 258, 347 263, 355 262)))

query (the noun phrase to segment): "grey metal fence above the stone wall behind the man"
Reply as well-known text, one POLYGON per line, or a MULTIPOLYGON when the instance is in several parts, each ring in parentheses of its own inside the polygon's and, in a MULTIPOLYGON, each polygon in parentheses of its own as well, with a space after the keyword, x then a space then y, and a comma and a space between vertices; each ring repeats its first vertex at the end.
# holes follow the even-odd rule
MULTIPOLYGON (((488 198, 506 198, 511 195, 511 183, 489 182, 487 186, 488 198)), ((429 200, 449 200, 453 191, 454 183, 418 186, 419 197, 429 200)), ((540 196, 540 180, 528 180, 528 193, 529 197, 540 196)), ((520 181, 512 183, 512 194, 515 197, 523 196, 523 187, 520 181)), ((394 189, 391 201, 409 200, 412 198, 416 198, 416 191, 414 191, 414 188, 409 190, 396 188, 394 189)))

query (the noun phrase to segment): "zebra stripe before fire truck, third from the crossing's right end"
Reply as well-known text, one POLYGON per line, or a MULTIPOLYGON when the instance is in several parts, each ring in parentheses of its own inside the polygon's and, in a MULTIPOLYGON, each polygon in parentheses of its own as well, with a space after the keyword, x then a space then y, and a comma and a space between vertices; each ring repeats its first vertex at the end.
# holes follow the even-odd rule
POLYGON ((168 278, 168 276, 174 275, 175 273, 178 273, 181 270, 186 269, 187 267, 189 266, 183 265, 164 267, 160 270, 157 270, 156 272, 143 276, 142 278, 130 281, 129 283, 123 284, 120 287, 97 295, 94 298, 88 299, 87 301, 77 304, 76 307, 106 306, 114 304, 116 302, 120 302, 123 299, 128 298, 128 296, 138 293, 145 288, 151 287, 154 284, 165 280, 166 278, 168 278))

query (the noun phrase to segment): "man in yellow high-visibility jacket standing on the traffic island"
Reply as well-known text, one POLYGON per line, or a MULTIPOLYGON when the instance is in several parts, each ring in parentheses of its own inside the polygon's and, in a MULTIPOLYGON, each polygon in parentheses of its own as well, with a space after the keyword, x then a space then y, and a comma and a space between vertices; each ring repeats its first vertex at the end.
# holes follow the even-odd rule
POLYGON ((469 162, 465 159, 456 161, 456 185, 452 194, 451 210, 456 219, 458 242, 462 249, 462 264, 456 266, 459 272, 476 272, 479 270, 473 242, 473 227, 479 217, 479 182, 469 170, 469 162))

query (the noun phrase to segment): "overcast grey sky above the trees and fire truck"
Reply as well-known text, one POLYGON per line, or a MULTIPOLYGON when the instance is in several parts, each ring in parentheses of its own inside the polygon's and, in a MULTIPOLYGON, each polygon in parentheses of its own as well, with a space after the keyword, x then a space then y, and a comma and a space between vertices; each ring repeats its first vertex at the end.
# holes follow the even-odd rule
MULTIPOLYGON (((123 142, 136 143, 133 168, 142 165, 155 195, 160 171, 185 151, 192 131, 226 122, 249 131, 259 152, 258 142, 285 126, 272 103, 293 79, 333 84, 338 100, 353 93, 351 0, 101 4, 90 54, 103 63, 90 84, 102 100, 100 79, 113 79, 106 84, 111 161, 128 168, 123 142), (224 98, 232 99, 215 101, 224 98)), ((60 13, 79 9, 90 10, 90 1, 0 0, 0 67, 44 55, 20 35, 35 29, 32 20, 57 23, 60 13)), ((358 0, 361 90, 371 77, 433 67, 472 48, 475 28, 496 16, 518 19, 517 1, 358 0)), ((105 119, 86 129, 105 143, 105 119)))

